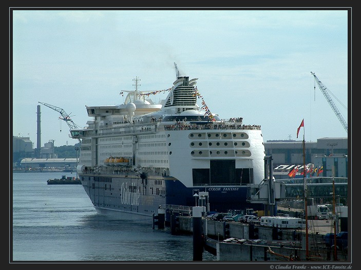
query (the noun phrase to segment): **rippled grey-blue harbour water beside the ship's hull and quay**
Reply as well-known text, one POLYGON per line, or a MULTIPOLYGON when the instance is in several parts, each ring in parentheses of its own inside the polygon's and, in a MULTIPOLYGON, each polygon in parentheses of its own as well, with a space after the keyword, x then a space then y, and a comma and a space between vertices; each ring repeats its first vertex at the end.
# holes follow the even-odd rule
MULTIPOLYGON (((193 261, 192 235, 99 215, 82 185, 46 183, 62 174, 74 176, 13 174, 10 262, 193 261)), ((216 260, 206 251, 202 257, 216 260)))

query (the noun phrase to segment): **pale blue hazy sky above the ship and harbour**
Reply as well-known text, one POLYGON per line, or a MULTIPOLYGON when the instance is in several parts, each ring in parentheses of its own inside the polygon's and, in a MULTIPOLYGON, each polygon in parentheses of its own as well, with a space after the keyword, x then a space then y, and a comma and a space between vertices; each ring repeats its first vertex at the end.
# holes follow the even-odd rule
MULTIPOLYGON (((50 140, 55 147, 78 143, 60 113, 39 102, 63 109, 83 128, 92 119, 86 106, 124 103, 120 92, 134 90, 136 77, 140 91, 168 89, 177 71, 198 78, 213 114, 260 125, 264 142, 302 140, 303 132, 306 141, 348 137, 332 109, 351 124, 346 9, 10 13, 10 123, 13 136, 30 137, 34 148, 38 105, 41 146, 50 140), (296 138, 302 119, 305 127, 296 138)), ((165 97, 150 96, 154 102, 165 97)))

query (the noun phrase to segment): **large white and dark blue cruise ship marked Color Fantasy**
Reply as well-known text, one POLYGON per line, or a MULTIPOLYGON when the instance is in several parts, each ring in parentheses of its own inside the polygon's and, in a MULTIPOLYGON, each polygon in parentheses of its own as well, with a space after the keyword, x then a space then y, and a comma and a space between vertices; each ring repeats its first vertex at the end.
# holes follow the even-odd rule
POLYGON ((167 222, 193 206, 259 207, 246 193, 264 179, 261 127, 211 112, 197 80, 178 76, 169 89, 146 92, 136 77, 121 105, 86 106, 91 120, 69 136, 81 141, 77 172, 98 213, 152 222, 164 209, 167 222), (149 98, 161 92, 159 103, 149 98))

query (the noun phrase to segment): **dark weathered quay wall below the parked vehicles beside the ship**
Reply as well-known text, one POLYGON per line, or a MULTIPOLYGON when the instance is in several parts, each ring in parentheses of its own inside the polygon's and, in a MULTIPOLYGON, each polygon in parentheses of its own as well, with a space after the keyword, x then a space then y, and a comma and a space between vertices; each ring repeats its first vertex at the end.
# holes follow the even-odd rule
MULTIPOLYGON (((206 245, 216 251, 218 261, 280 261, 289 259, 290 255, 306 260, 305 230, 277 230, 277 228, 263 227, 241 222, 226 222, 202 220, 203 232, 206 228, 206 245), (237 243, 236 239, 259 239, 268 243, 237 243), (212 240, 214 239, 214 240, 212 240), (230 239, 231 241, 223 241, 230 239), (298 248, 288 247, 290 242, 298 248)), ((193 218, 178 217, 178 230, 182 233, 193 234, 193 218)), ((330 247, 326 247, 324 235, 311 233, 309 235, 310 252, 319 251, 322 259, 334 260, 330 247)), ((210 251, 211 252, 211 251, 210 251)), ((211 252, 213 254, 213 252, 211 252)), ((347 261, 347 252, 338 251, 337 260, 347 261)))

